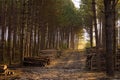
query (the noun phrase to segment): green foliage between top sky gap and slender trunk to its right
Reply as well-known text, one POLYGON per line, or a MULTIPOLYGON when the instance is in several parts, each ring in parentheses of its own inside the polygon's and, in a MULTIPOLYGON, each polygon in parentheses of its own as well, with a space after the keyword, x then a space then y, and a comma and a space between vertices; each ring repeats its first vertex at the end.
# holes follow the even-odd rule
POLYGON ((82 15, 82 25, 89 33, 92 26, 92 0, 81 0, 80 13, 82 15))

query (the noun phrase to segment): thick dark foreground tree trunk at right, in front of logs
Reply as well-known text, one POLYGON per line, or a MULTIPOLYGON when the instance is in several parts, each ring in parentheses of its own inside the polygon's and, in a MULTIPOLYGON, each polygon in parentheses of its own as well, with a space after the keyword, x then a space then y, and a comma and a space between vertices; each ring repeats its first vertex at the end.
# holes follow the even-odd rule
POLYGON ((111 0, 104 0, 106 35, 106 73, 114 76, 114 11, 111 0))

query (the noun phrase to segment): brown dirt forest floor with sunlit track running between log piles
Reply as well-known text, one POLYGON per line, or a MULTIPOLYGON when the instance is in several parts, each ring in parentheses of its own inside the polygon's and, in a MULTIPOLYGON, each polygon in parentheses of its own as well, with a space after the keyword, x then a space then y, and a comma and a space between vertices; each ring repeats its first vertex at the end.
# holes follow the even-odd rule
POLYGON ((105 73, 85 70, 84 52, 65 52, 46 67, 15 68, 12 76, 0 76, 0 80, 120 80, 108 79, 105 73))

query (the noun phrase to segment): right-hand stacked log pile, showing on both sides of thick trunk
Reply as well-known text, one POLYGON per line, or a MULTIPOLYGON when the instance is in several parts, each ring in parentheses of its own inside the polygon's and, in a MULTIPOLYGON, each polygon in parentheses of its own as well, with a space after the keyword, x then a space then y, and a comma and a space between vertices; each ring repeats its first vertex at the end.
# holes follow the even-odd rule
MULTIPOLYGON (((89 71, 104 71, 106 62, 105 62, 105 54, 103 50, 99 50, 99 62, 97 60, 97 54, 95 48, 87 48, 86 49, 86 69, 89 71)), ((120 49, 117 49, 117 53, 115 54, 115 71, 120 71, 120 49)))

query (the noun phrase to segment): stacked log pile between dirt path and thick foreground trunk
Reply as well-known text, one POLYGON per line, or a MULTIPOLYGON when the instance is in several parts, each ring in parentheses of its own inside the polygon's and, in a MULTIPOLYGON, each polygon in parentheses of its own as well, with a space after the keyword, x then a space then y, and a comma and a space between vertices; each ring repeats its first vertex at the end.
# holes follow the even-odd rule
POLYGON ((99 53, 95 47, 86 49, 86 69, 89 71, 104 71, 105 70, 105 54, 102 49, 99 53), (99 61, 98 61, 99 60, 99 61))

